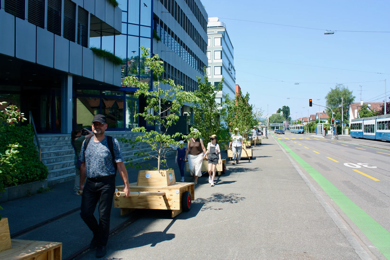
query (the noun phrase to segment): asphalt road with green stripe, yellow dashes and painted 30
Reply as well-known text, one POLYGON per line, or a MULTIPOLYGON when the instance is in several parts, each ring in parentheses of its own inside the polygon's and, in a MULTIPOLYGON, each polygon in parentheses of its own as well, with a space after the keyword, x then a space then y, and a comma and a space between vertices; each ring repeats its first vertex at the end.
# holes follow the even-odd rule
POLYGON ((367 146, 388 144, 351 138, 333 141, 288 131, 273 136, 371 257, 390 259, 390 151, 367 146))

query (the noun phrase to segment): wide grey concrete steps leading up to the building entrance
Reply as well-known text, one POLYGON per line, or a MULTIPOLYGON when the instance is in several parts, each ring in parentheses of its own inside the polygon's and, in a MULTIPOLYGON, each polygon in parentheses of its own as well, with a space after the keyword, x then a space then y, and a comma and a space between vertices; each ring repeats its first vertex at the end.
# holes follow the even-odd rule
MULTIPOLYGON (((139 133, 134 132, 107 132, 107 135, 111 135, 116 139, 125 137, 135 139, 139 133)), ((48 185, 52 185, 60 182, 67 182, 73 180, 76 175, 76 168, 74 167, 74 149, 71 145, 70 134, 39 134, 39 144, 41 145, 41 157, 42 162, 48 167, 48 185)), ((151 155, 157 155, 156 152, 152 152, 147 143, 139 144, 138 148, 132 148, 131 144, 119 142, 121 151, 125 160, 125 164, 128 164, 127 160, 133 158, 132 162, 143 162, 145 156, 135 156, 134 153, 138 152, 138 148, 145 152, 150 152, 151 155)), ((167 155, 174 154, 176 151, 168 151, 167 155)))

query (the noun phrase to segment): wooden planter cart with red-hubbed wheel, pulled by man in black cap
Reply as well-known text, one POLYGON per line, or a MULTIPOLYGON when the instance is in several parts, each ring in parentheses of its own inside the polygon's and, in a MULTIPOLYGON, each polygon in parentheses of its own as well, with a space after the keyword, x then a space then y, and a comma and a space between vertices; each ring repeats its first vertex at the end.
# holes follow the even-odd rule
MULTIPOLYGON (((123 187, 120 185, 116 188, 122 191, 123 187)), ((139 192, 138 196, 114 196, 114 207, 121 208, 121 215, 134 208, 145 208, 171 210, 172 217, 175 217, 190 210, 191 200, 195 199, 194 191, 193 182, 176 182, 173 170, 139 171, 137 182, 130 183, 130 192, 139 192)))

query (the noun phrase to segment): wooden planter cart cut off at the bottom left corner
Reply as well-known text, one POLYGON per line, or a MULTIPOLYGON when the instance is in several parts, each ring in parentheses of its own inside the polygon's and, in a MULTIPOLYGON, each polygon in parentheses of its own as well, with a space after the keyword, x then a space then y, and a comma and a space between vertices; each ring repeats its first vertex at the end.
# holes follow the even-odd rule
POLYGON ((61 260, 62 243, 11 239, 8 219, 0 221, 1 260, 61 260))

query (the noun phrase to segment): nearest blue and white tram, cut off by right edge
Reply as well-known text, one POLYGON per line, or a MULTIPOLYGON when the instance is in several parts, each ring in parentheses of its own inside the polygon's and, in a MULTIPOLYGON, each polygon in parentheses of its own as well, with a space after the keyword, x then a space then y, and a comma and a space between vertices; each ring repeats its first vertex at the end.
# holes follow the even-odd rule
POLYGON ((390 114, 352 119, 351 137, 390 141, 390 114))

